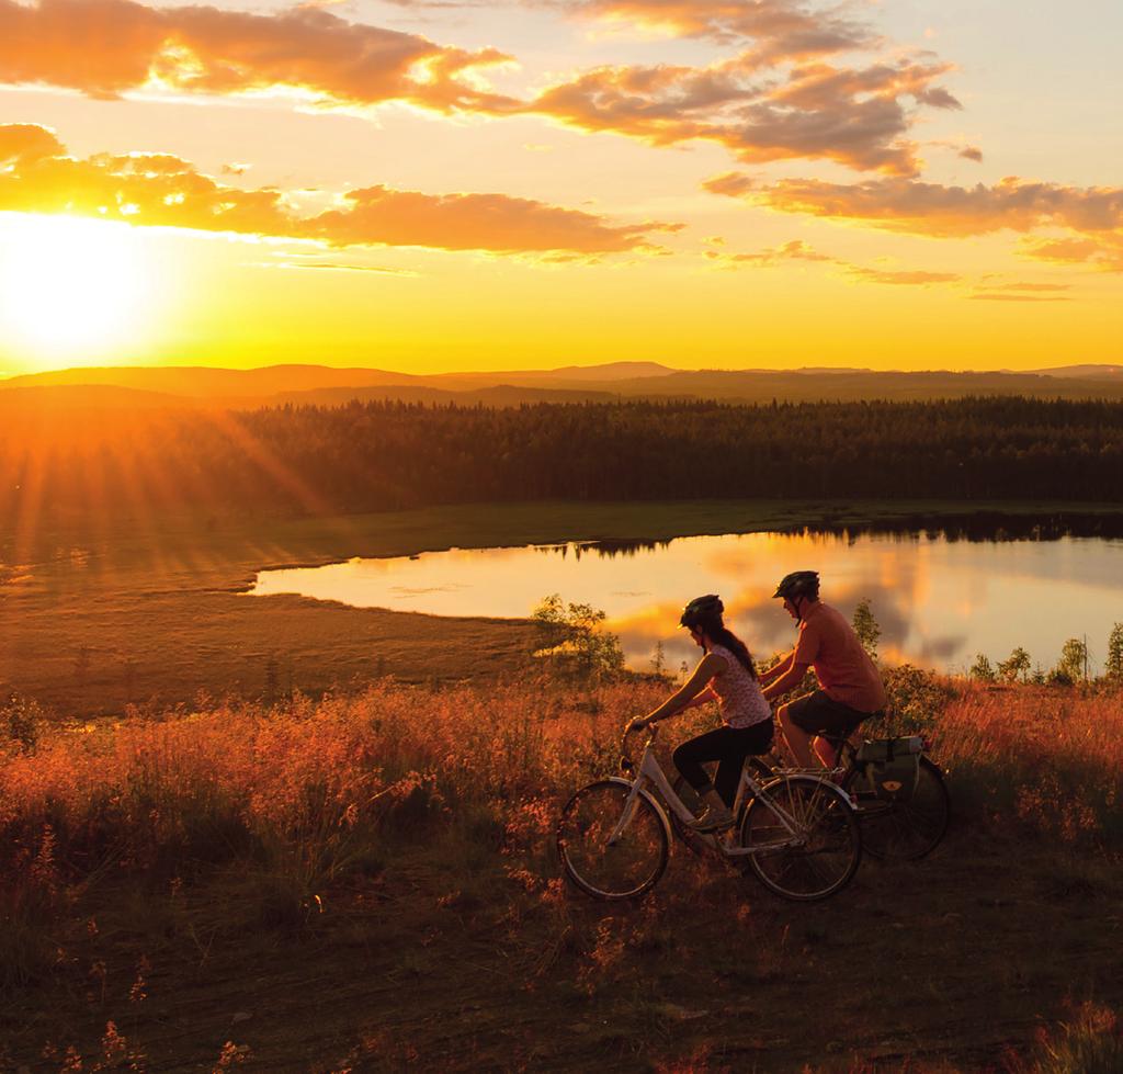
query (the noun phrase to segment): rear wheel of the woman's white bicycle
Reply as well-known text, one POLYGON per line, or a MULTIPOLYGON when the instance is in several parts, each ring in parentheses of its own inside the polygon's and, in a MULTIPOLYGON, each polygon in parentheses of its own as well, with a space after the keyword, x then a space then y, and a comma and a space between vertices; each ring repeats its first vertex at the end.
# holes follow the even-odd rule
POLYGON ((839 788, 816 776, 770 780, 764 791, 798 821, 802 841, 767 849, 791 839, 779 818, 759 798, 741 820, 741 845, 761 847, 748 856, 757 879, 773 893, 797 902, 814 902, 850 883, 861 861, 858 817, 839 788))

